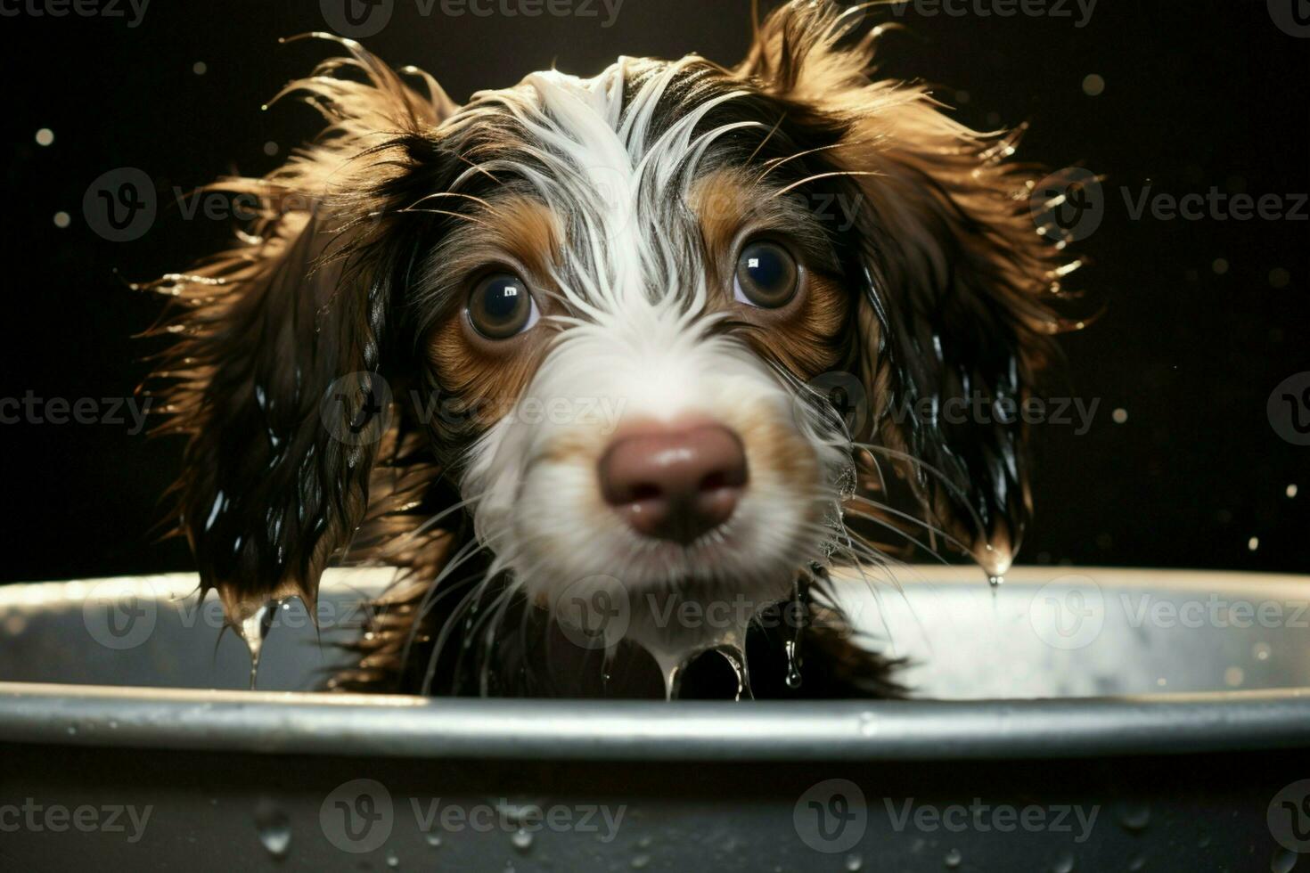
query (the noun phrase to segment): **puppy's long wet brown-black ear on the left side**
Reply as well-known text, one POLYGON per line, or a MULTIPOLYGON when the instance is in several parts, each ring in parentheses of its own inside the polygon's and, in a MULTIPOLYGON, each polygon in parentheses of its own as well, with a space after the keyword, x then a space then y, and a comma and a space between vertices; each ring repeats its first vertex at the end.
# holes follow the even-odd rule
MULTIPOLYGON (((173 491, 203 590, 237 623, 269 598, 312 605, 368 504, 396 344, 388 221, 398 179, 452 109, 351 41, 283 94, 307 92, 328 130, 262 179, 207 190, 252 213, 241 245, 151 285, 173 298, 157 432, 186 433, 173 491), (335 77, 346 71, 354 79, 335 77)), ((280 94, 279 94, 280 97, 280 94)))

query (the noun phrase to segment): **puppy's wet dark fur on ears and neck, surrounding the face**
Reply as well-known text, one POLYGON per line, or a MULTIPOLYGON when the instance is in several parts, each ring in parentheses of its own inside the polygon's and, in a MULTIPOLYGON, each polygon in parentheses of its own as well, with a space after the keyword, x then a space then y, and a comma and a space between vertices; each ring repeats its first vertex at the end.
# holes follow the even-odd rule
MULTIPOLYGON (((845 294, 828 321, 807 321, 808 334, 781 343, 749 319, 713 327, 793 380, 816 421, 832 416, 806 397, 807 378, 820 368, 862 377, 870 425, 844 446, 875 500, 846 504, 828 563, 883 564, 926 524, 937 533, 925 539, 1003 568, 1031 512, 1023 425, 900 424, 892 411, 973 390, 1028 397, 1064 327, 1053 313, 1060 254, 1028 216, 1032 170, 1003 160, 1017 136, 976 134, 922 88, 870 80, 876 31, 855 33, 853 20, 831 3, 787 4, 731 69, 629 59, 625 99, 668 76, 654 109, 662 130, 715 101, 694 131, 740 126, 715 143, 717 165, 858 198, 854 225, 825 226, 815 241, 828 251, 817 258, 828 258, 827 281, 845 294), (884 508, 897 490, 922 522, 884 508)), ((660 695, 659 670, 639 649, 621 644, 604 669, 599 653, 559 644, 549 611, 483 547, 477 501, 461 505, 470 450, 494 419, 485 410, 512 404, 545 346, 517 359, 521 377, 443 351, 434 330, 449 323, 453 294, 431 241, 476 233, 486 217, 477 200, 515 185, 499 169, 514 144, 524 144, 514 160, 538 160, 514 111, 520 97, 487 93, 458 107, 426 75, 393 72, 341 42, 348 58, 283 92, 309 99, 328 130, 266 178, 211 186, 257 196, 262 217, 231 251, 152 284, 172 298, 155 332, 173 344, 151 390, 169 416, 160 431, 189 440, 174 517, 202 586, 217 589, 240 623, 270 598, 313 602, 331 560, 400 568, 337 688, 660 695), (460 196, 432 196, 455 182, 460 196), (355 444, 322 418, 324 403, 362 414, 367 391, 328 397, 351 373, 385 378, 394 401, 364 433, 376 438, 355 444), (424 406, 434 398, 436 415, 424 406)), ((828 575, 811 569, 820 558, 795 568, 811 619, 799 641, 803 682, 782 681, 791 631, 756 630, 747 645, 755 694, 899 694, 893 664, 833 615, 828 575)), ((734 677, 715 662, 686 671, 683 696, 731 696, 734 677)))

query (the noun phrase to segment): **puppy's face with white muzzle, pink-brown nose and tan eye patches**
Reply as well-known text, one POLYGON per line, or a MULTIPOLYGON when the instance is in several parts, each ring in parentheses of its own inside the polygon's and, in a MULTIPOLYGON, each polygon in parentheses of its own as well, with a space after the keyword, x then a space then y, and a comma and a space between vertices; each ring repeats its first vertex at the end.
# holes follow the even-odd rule
POLYGON ((760 157, 781 109, 747 96, 701 60, 624 62, 449 123, 478 165, 415 305, 470 418, 479 539, 548 607, 578 585, 762 606, 834 533, 850 455, 796 386, 837 363, 849 294, 786 196, 807 168, 768 171, 791 137, 760 157))

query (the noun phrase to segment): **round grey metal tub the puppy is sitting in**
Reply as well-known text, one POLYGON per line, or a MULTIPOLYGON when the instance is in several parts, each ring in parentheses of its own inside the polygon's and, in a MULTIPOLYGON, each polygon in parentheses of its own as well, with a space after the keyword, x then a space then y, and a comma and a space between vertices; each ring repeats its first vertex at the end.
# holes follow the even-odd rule
MULTIPOLYGON (((0 588, 0 868, 1290 870, 1310 579, 849 580, 896 703, 307 692, 380 571, 279 614, 259 690, 194 577, 0 588)), ((1305 864, 1302 864, 1305 866, 1305 864)))

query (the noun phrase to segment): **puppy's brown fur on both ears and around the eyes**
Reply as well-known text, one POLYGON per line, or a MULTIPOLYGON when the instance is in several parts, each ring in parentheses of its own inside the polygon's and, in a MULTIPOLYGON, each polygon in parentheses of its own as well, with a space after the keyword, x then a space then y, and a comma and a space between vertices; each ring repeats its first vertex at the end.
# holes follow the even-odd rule
MULTIPOLYGON (((870 450, 897 453, 930 517, 967 548, 984 560, 1007 556, 1031 510, 1023 427, 899 424, 892 411, 941 404, 965 386, 1022 402, 1053 356, 1051 334, 1065 327, 1052 313, 1058 257, 1027 216, 1032 173, 1003 162, 1017 137, 959 126, 921 88, 871 81, 875 34, 852 38, 841 21, 827 0, 791 3, 758 27, 736 68, 698 68, 777 109, 779 139, 807 128, 836 137, 812 153, 778 156, 768 169, 804 166, 808 175, 790 187, 858 194, 862 207, 846 260, 825 253, 831 229, 810 234, 824 240, 799 243, 808 281, 794 305, 741 314, 731 327, 798 378, 858 372, 874 406, 862 435, 879 444, 870 450)), ((470 241, 469 257, 436 264, 432 281, 443 292, 466 288, 479 253, 493 247, 545 285, 550 253, 566 241, 561 216, 532 202, 498 199, 455 215, 451 202, 430 200, 444 178, 434 168, 476 164, 512 132, 491 115, 443 126, 456 106, 430 77, 406 71, 421 93, 358 45, 342 45, 350 58, 283 92, 305 93, 328 130, 263 179, 212 186, 255 195, 259 220, 231 251, 151 285, 173 302, 173 317, 155 332, 176 340, 155 383, 169 416, 160 431, 189 440, 176 518, 202 588, 217 588, 240 622, 269 597, 312 603, 334 555, 401 567, 400 585, 359 644, 359 669, 339 683, 393 688, 411 669, 411 643, 444 618, 426 610, 434 580, 470 542, 466 513, 423 527, 457 500, 448 476, 461 444, 452 435, 466 444, 489 419, 474 416, 462 431, 424 421, 400 390, 392 415, 368 418, 372 398, 358 389, 377 377, 421 395, 435 389, 457 410, 490 401, 503 411, 500 401, 521 391, 549 339, 534 331, 500 349, 479 346, 457 294, 432 321, 409 323, 415 301, 400 298, 411 292, 409 253, 453 216, 464 221, 447 238, 470 241), (341 71, 355 79, 337 77, 341 71), (483 123, 468 149, 452 145, 483 123), (508 221, 498 220, 491 246, 495 223, 478 216, 496 211, 508 221), (330 397, 343 377, 351 390, 330 397), (325 412, 325 402, 342 408, 325 412), (381 440, 334 438, 329 412, 368 418, 381 440)), ((741 225, 787 216, 789 207, 761 190, 758 178, 740 173, 710 175, 698 188, 710 263, 727 276, 741 225)), ((789 441, 774 436, 787 452, 789 441)), ((837 657, 842 675, 859 675, 849 654, 837 657)), ((878 685, 867 675, 852 682, 866 691, 878 685)))

